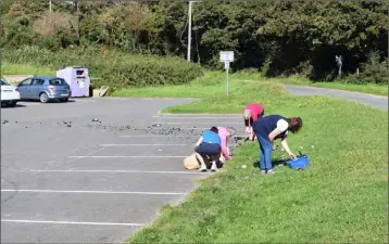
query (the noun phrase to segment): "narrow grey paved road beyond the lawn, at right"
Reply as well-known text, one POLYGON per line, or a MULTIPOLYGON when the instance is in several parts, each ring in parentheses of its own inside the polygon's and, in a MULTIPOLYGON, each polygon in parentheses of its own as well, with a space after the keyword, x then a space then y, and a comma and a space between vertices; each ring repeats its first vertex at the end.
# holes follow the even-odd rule
POLYGON ((342 91, 299 85, 284 85, 287 91, 296 95, 328 95, 350 101, 359 101, 379 110, 388 110, 388 98, 382 95, 364 94, 360 92, 342 91))

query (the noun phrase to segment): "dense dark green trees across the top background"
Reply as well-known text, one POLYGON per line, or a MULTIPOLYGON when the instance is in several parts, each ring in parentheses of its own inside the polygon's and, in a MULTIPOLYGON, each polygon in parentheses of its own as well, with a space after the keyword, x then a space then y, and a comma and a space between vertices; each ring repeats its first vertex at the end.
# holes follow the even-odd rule
MULTIPOLYGON (((186 57, 186 2, 52 2, 50 14, 48 1, 3 0, 1 46, 57 51, 100 44, 128 53, 186 57)), ((219 68, 218 52, 233 50, 234 69, 332 80, 338 74, 335 55, 342 55, 342 77, 354 80, 359 68, 359 82, 385 82, 387 12, 387 1, 196 2, 192 60, 219 68)))

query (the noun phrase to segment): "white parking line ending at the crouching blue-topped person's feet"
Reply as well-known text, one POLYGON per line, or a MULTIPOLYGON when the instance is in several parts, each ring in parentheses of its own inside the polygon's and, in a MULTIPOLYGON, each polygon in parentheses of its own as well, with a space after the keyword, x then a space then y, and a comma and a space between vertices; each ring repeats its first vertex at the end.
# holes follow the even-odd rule
MULTIPOLYGON (((128 174, 177 174, 177 175, 199 175, 198 171, 150 171, 150 170, 99 170, 99 169, 30 169, 32 172, 128 172, 128 174)), ((203 174, 203 172, 201 172, 203 174)), ((205 172, 206 174, 206 172, 205 172)))

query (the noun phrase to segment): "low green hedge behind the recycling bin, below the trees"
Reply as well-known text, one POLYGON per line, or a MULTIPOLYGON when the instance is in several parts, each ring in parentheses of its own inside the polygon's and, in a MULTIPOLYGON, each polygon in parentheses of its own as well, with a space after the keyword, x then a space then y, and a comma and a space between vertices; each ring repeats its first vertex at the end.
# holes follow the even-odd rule
POLYGON ((129 55, 97 48, 75 48, 51 52, 37 47, 2 50, 3 60, 13 64, 46 65, 53 69, 85 65, 92 85, 124 87, 181 85, 202 76, 200 65, 178 57, 129 55))

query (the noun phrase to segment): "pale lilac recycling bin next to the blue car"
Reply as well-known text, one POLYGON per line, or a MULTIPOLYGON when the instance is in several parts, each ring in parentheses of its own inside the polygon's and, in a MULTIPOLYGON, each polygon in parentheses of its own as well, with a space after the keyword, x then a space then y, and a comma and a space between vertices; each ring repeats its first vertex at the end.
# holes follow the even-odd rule
POLYGON ((90 79, 87 67, 65 67, 57 70, 57 77, 66 80, 73 98, 89 97, 90 79))

